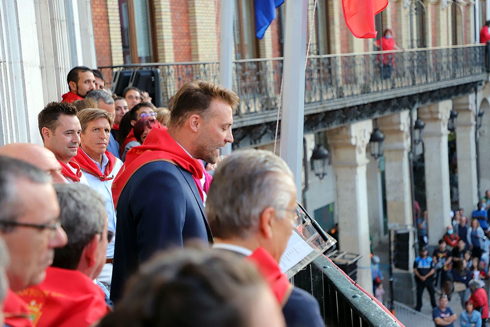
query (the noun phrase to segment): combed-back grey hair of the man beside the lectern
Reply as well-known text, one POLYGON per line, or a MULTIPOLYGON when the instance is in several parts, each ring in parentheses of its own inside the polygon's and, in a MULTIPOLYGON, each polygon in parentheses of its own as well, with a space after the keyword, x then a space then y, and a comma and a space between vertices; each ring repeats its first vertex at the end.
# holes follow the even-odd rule
MULTIPOLYGON (((279 156, 265 150, 233 152, 218 165, 206 200, 213 235, 246 238, 267 207, 285 209, 294 198, 293 173, 279 156)), ((286 211, 278 210, 280 218, 286 211)))

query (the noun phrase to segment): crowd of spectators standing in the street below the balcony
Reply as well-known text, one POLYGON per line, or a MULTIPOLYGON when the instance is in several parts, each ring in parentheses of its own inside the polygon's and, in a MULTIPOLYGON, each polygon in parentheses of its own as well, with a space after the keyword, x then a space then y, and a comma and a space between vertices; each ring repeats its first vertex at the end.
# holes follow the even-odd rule
MULTIPOLYGON (((422 211, 417 220, 419 256, 414 263, 417 311, 422 306, 423 291, 427 289, 434 308, 434 318, 442 310, 438 309, 435 299, 435 294, 439 293, 442 307, 445 308, 447 302, 456 296, 462 308, 466 308, 460 317, 461 326, 486 326, 489 320, 489 211, 490 190, 485 192, 485 197, 471 212, 469 223, 463 208, 451 211, 452 224, 445 227, 445 233, 432 256, 428 255, 428 213, 427 210, 422 211)), ((453 314, 451 311, 451 314, 446 312, 442 315, 447 318, 453 314)), ((451 318, 451 322, 454 320, 451 318)), ((448 325, 447 319, 443 322, 447 324, 441 321, 441 326, 452 326, 448 325)), ((439 326, 437 322, 436 325, 439 326)))

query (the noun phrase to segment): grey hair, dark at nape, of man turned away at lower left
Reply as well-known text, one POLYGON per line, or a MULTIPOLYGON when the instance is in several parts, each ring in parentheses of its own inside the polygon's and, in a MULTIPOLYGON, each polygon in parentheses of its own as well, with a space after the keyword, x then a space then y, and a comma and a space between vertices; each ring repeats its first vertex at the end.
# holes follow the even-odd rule
POLYGON ((84 184, 55 184, 61 208, 61 227, 68 244, 54 250, 53 266, 76 269, 83 248, 104 231, 107 213, 105 201, 97 191, 84 184))

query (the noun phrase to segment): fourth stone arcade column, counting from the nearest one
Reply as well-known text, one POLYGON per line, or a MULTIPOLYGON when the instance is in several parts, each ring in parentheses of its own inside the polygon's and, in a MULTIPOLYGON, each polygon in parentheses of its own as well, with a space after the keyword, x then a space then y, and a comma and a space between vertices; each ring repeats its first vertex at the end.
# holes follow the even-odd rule
POLYGON ((456 151, 458 153, 459 206, 470 212, 478 202, 475 144, 475 94, 453 100, 458 112, 456 120, 456 151))

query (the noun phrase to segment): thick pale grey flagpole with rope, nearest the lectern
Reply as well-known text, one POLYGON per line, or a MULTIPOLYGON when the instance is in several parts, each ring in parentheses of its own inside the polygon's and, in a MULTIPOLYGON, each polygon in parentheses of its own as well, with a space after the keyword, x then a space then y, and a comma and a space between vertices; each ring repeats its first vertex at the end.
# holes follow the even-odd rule
POLYGON ((281 157, 293 171, 297 200, 301 201, 308 1, 285 2, 287 24, 284 37, 280 151, 281 157))

